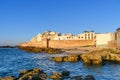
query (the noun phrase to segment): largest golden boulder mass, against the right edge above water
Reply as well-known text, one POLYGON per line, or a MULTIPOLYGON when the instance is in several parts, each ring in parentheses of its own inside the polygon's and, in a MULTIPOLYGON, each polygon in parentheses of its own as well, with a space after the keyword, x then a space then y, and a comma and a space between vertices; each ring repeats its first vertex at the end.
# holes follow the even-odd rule
POLYGON ((104 49, 82 54, 81 59, 86 64, 102 64, 106 60, 120 62, 120 54, 116 54, 110 49, 104 49))

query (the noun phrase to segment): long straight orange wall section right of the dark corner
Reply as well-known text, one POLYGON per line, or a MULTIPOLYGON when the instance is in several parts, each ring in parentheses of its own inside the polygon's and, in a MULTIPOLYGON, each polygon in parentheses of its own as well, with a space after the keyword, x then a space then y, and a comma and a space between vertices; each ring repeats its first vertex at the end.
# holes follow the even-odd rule
POLYGON ((52 48, 78 48, 80 46, 94 45, 93 40, 51 40, 49 47, 52 48))

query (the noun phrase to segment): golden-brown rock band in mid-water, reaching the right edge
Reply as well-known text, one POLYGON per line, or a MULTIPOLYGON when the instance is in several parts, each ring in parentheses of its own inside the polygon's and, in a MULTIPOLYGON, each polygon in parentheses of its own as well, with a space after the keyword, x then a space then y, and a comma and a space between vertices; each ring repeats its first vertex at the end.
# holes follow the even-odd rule
POLYGON ((120 62, 120 52, 111 49, 103 49, 83 54, 51 57, 50 60, 56 62, 77 62, 82 60, 85 64, 102 64, 105 61, 120 62))

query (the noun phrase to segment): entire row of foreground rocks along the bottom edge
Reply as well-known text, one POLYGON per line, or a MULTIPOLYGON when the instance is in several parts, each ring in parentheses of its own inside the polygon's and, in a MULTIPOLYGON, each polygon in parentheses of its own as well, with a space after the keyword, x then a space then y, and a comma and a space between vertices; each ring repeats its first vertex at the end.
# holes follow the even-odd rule
POLYGON ((0 80, 95 80, 93 75, 78 75, 70 77, 70 71, 64 70, 61 72, 54 72, 48 76, 40 68, 34 68, 31 70, 22 70, 19 72, 19 77, 7 76, 0 78, 0 80))

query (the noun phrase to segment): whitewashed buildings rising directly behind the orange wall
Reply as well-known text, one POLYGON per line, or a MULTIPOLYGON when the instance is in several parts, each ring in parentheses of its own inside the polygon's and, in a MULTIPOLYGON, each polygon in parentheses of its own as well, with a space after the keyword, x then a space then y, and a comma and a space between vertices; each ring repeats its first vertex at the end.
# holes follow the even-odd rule
POLYGON ((35 37, 31 39, 31 42, 42 41, 42 39, 49 40, 94 40, 95 33, 92 31, 85 31, 83 34, 73 35, 69 34, 61 34, 53 31, 45 31, 43 34, 37 34, 35 37))

